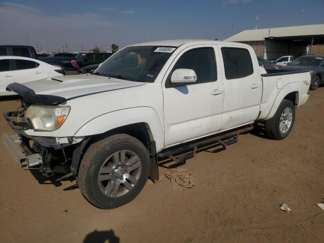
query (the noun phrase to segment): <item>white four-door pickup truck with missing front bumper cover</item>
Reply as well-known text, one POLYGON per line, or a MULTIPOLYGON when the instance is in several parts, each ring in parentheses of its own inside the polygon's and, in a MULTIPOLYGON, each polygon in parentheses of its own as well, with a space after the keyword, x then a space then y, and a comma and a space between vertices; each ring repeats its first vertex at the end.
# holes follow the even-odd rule
POLYGON ((23 169, 75 176, 93 205, 111 209, 158 180, 158 157, 181 163, 207 144, 225 147, 256 121, 287 137, 309 84, 308 71, 266 73, 245 44, 136 44, 93 74, 10 84, 22 108, 4 114, 16 134, 3 138, 23 169))

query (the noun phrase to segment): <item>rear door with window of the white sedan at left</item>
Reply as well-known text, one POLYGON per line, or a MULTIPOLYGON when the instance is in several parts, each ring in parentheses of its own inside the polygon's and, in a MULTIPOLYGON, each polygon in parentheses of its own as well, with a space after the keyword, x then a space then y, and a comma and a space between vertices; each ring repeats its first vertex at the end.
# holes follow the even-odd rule
POLYGON ((39 63, 22 60, 22 59, 13 59, 15 60, 15 82, 16 83, 26 83, 29 81, 41 79, 43 77, 43 66, 39 63))

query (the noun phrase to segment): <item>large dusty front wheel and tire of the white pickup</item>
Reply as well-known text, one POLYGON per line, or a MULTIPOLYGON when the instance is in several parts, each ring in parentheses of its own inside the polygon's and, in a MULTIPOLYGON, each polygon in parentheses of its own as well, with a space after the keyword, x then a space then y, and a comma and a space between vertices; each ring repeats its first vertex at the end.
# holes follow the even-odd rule
POLYGON ((113 209, 133 200, 148 178, 150 159, 136 138, 117 134, 93 143, 81 161, 77 184, 91 204, 113 209))

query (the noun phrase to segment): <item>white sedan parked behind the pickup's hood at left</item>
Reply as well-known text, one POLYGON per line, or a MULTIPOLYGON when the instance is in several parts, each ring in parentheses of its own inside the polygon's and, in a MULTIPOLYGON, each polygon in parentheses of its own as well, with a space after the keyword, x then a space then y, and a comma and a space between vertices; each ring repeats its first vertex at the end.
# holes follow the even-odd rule
POLYGON ((27 83, 41 78, 62 76, 61 67, 48 63, 17 56, 0 56, 0 96, 15 95, 6 91, 11 83, 27 83))

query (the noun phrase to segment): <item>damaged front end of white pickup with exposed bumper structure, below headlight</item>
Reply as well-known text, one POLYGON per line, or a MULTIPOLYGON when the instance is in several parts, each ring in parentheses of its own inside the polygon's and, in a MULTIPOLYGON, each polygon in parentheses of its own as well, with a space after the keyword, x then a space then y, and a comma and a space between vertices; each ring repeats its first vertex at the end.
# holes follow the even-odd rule
POLYGON ((3 142, 20 167, 39 170, 47 177, 55 173, 64 174, 64 178, 75 175, 82 149, 89 138, 30 136, 28 131, 33 129, 23 114, 24 111, 4 114, 16 134, 3 134, 3 142))

